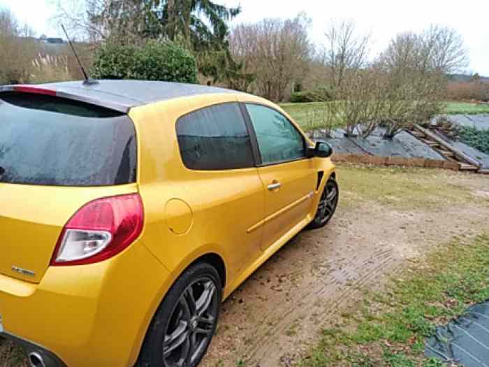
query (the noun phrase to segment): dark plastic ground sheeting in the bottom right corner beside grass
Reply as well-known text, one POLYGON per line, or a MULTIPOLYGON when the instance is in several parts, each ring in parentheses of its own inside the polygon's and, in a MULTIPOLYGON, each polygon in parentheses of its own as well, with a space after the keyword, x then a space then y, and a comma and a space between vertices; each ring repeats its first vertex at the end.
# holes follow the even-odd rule
POLYGON ((489 367, 489 301, 473 305, 465 314, 425 343, 425 356, 465 367, 489 367))

